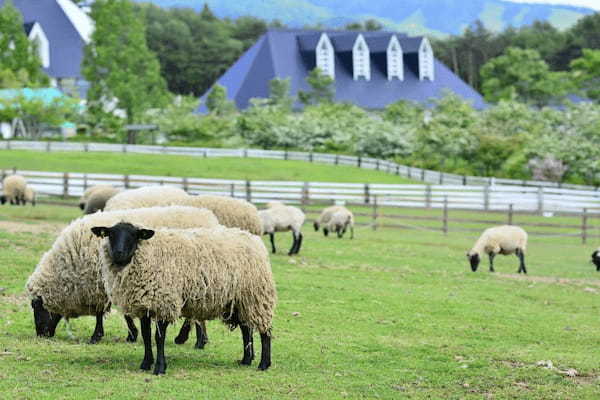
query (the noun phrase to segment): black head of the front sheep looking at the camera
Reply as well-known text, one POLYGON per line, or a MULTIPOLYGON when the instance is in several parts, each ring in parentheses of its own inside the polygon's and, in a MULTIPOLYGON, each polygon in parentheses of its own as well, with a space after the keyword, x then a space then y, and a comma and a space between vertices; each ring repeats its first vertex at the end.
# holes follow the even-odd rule
POLYGON ((108 238, 108 254, 113 264, 121 268, 131 262, 140 240, 148 240, 154 236, 153 230, 138 228, 127 222, 119 222, 110 228, 95 226, 92 233, 101 238, 108 238))

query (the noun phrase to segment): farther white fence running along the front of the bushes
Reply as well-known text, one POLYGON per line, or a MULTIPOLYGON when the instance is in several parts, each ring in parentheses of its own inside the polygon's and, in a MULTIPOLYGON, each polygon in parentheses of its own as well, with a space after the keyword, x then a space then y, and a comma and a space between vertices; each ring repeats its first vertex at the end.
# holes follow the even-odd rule
POLYGON ((564 188, 574 190, 597 191, 598 187, 575 185, 560 182, 545 182, 534 180, 504 179, 457 175, 428 169, 400 165, 392 161, 371 157, 347 156, 339 154, 299 152, 287 150, 260 149, 219 149, 207 147, 169 147, 112 143, 75 143, 75 142, 36 142, 0 140, 0 150, 36 150, 36 151, 83 151, 83 152, 112 152, 138 154, 170 154, 195 157, 246 157, 270 158, 279 160, 299 160, 325 163, 331 165, 348 165, 357 168, 383 171, 389 174, 419 180, 432 185, 462 185, 462 186, 530 186, 540 188, 564 188))

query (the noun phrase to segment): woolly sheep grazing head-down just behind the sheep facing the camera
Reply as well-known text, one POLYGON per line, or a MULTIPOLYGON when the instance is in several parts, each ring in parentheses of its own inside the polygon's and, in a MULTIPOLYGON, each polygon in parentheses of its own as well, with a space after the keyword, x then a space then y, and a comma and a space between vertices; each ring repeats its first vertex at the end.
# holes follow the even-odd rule
MULTIPOLYGON (((90 343, 102 338, 102 317, 110 309, 110 302, 102 283, 97 240, 90 228, 122 220, 150 227, 218 225, 216 217, 208 210, 179 206, 100 212, 73 221, 42 256, 25 286, 32 300, 38 336, 54 336, 56 325, 62 317, 95 315, 96 329, 90 343)), ((125 319, 129 327, 127 341, 134 342, 137 329, 131 318, 125 319)))

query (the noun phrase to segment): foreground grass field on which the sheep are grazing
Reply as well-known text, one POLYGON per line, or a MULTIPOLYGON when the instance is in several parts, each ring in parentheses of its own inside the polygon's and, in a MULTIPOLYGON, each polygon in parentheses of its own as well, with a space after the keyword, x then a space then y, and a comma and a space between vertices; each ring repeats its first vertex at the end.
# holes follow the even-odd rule
MULTIPOLYGON (((407 211, 409 212, 409 211, 407 211)), ((439 211, 420 212, 438 215, 439 211)), ((0 208, 0 397, 7 399, 597 399, 600 280, 592 245, 530 238, 527 277, 516 257, 470 272, 476 234, 424 230, 323 239, 305 227, 298 257, 277 236, 273 366, 238 366, 239 331, 208 324, 210 342, 173 344, 167 375, 138 370, 140 343, 124 342, 113 312, 104 340, 86 344, 91 317, 35 337, 23 286, 75 208, 0 208), (299 314, 296 314, 299 313, 299 314), (554 368, 537 363, 550 360, 554 368), (574 369, 577 374, 570 371, 574 369)), ((310 228, 310 229, 309 229, 310 228)), ((255 338, 257 340, 257 338, 255 338)))

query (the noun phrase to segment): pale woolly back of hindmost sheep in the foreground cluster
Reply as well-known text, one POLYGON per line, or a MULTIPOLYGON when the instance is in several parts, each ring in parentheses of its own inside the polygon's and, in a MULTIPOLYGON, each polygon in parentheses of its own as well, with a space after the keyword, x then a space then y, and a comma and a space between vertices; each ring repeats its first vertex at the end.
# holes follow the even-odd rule
POLYGON ((188 194, 172 186, 146 186, 124 190, 106 202, 106 211, 158 206, 184 205, 188 194))

